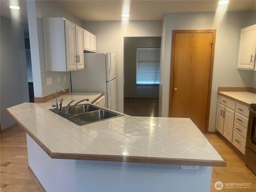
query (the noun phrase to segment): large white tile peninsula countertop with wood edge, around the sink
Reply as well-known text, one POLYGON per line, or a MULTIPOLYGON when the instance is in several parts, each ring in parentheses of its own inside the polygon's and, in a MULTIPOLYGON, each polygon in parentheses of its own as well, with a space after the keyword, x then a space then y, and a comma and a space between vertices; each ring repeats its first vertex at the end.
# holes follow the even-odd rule
MULTIPOLYGON (((62 98, 77 102, 84 93, 62 98)), ((226 166, 189 118, 124 115, 78 126, 50 108, 50 102, 23 103, 6 111, 51 158, 226 166)))

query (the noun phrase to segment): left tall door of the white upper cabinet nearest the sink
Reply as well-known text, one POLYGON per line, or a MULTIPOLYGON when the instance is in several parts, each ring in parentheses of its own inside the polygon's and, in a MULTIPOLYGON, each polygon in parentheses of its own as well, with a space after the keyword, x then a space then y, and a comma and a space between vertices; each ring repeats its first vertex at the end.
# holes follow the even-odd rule
POLYGON ((75 25, 65 20, 66 68, 76 70, 76 29, 75 25))

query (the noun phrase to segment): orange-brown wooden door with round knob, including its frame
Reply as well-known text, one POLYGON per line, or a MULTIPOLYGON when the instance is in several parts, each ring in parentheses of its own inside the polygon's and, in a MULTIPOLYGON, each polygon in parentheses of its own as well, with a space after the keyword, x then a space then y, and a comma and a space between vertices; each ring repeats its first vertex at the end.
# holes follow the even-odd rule
POLYGON ((208 132, 216 30, 174 30, 170 117, 186 117, 208 132))

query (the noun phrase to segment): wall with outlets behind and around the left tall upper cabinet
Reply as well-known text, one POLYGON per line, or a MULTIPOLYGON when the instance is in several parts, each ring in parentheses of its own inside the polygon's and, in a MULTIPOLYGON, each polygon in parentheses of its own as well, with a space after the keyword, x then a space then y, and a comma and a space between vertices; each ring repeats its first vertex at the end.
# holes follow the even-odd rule
MULTIPOLYGON (((43 32, 43 17, 64 17, 78 26, 82 26, 82 21, 66 12, 51 1, 27 1, 28 26, 30 36, 30 49, 32 59, 32 71, 34 81, 34 96, 44 97, 55 93, 58 86, 71 91, 70 72, 48 72, 46 71, 45 45, 43 32), (64 82, 66 75, 66 82, 64 82), (60 76, 60 83, 58 83, 60 76), (52 84, 46 85, 46 78, 52 77, 52 84)), ((58 90, 60 91, 60 90, 58 90)))

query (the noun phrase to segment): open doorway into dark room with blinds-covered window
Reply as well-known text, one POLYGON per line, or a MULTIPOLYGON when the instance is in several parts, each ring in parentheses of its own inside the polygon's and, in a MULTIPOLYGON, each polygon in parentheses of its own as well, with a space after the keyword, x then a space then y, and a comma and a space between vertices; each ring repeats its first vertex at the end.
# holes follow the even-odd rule
MULTIPOLYGON (((124 38, 124 113, 131 116, 158 116, 159 82, 142 82, 144 75, 151 72, 142 72, 141 82, 138 82, 138 52, 147 49, 157 50, 160 54, 161 37, 125 37, 124 38), (144 84, 143 84, 144 83, 144 84)), ((152 56, 151 52, 148 58, 152 56)), ((146 69, 151 66, 146 62, 146 69)), ((144 63, 145 64, 145 63, 144 63)), ((159 57, 160 72, 160 57, 159 57)), ((159 77, 158 77, 159 79, 159 77)), ((153 80, 154 81, 154 80, 153 80)), ((159 81, 159 80, 158 80, 159 81)))

